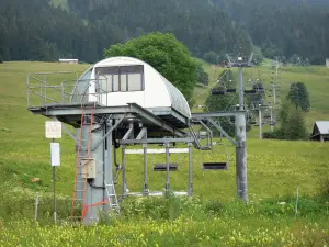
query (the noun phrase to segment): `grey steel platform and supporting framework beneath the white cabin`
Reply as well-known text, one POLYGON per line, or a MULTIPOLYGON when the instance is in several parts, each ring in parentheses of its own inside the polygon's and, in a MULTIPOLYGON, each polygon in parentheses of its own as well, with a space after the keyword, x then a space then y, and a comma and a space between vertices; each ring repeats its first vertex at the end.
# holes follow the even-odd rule
MULTIPOLYGON (((38 76, 42 74, 38 74, 38 76)), ((94 166, 97 176, 90 180, 92 182, 88 183, 88 201, 91 204, 97 204, 100 198, 106 198, 110 194, 115 193, 114 189, 106 188, 106 184, 114 184, 113 168, 116 164, 116 149, 122 145, 122 171, 123 171, 123 198, 126 195, 160 195, 160 192, 150 192, 148 190, 147 182, 147 154, 150 151, 148 149, 149 144, 163 144, 164 153, 167 157, 167 180, 166 180, 166 192, 170 191, 170 177, 169 177, 169 154, 171 151, 170 144, 175 143, 185 143, 188 148, 184 151, 189 155, 189 182, 188 182, 188 192, 177 192, 181 195, 192 195, 193 183, 192 183, 192 146, 197 149, 208 150, 212 149, 212 137, 213 134, 207 127, 208 124, 218 130, 234 146, 237 150, 240 150, 241 142, 243 142, 243 148, 246 149, 246 141, 241 139, 241 135, 236 136, 234 141, 220 126, 214 117, 218 116, 235 116, 236 119, 245 119, 246 112, 243 109, 239 111, 231 112, 209 112, 209 113, 192 113, 191 119, 186 119, 181 115, 179 112, 173 111, 170 108, 157 109, 154 111, 148 111, 140 105, 132 102, 127 105, 122 106, 106 106, 100 104, 98 101, 86 102, 86 99, 89 98, 88 91, 84 90, 81 94, 72 94, 64 90, 64 83, 59 86, 48 85, 45 80, 37 80, 38 87, 31 85, 31 78, 33 75, 27 77, 27 110, 33 114, 44 115, 53 120, 60 121, 68 125, 71 125, 78 132, 81 128, 81 153, 86 154, 87 145, 86 143, 90 138, 89 125, 81 124, 81 114, 83 115, 93 115, 93 124, 90 131, 92 135, 92 143, 90 144, 90 157, 94 159, 94 166), (58 93, 55 98, 49 97, 49 92, 58 93), (39 97, 39 100, 31 100, 31 96, 39 97), (59 97, 59 98, 58 98, 59 97), (75 100, 72 100, 75 99, 75 100), (37 102, 34 104, 33 102, 37 102), (83 109, 83 113, 82 113, 83 109), (172 114, 175 116, 177 122, 168 123, 163 115, 172 114), (196 134, 192 125, 201 125, 206 128, 208 132, 207 138, 211 138, 207 142, 207 145, 202 146, 200 135, 196 134), (127 193, 126 192, 126 178, 125 178, 125 167, 128 149, 128 145, 143 145, 143 155, 144 155, 144 190, 141 193, 127 193), (114 148, 113 148, 114 146, 114 148), (114 162, 113 162, 114 155, 114 162)), ((101 97, 101 93, 94 96, 95 98, 101 97)), ((88 122, 88 117, 87 117, 88 122)), ((243 121, 236 121, 237 130, 243 128, 243 121)), ((65 125, 64 130, 68 133, 70 137, 78 145, 77 134, 71 133, 65 125)), ((245 126, 246 127, 246 126, 245 126)), ((79 159, 77 153, 77 159, 79 159)), ((239 162, 246 164, 246 156, 238 155, 237 159, 239 162)), ((107 213, 110 211, 109 205, 101 204, 98 205, 98 210, 90 210, 83 222, 86 224, 91 224, 99 221, 100 215, 98 211, 101 207, 101 212, 107 213)))

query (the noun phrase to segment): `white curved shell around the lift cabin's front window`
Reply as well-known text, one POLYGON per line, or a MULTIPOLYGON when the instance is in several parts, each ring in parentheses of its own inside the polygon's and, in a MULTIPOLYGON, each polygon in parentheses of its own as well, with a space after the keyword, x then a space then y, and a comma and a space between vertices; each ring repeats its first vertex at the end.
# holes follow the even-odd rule
POLYGON ((86 71, 81 79, 95 79, 95 70, 107 67, 141 65, 144 68, 144 90, 112 91, 106 98, 107 106, 137 103, 150 111, 172 108, 185 117, 191 117, 191 110, 184 96, 149 64, 132 57, 110 57, 97 63, 86 71))

